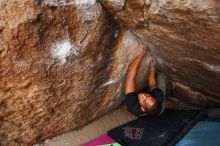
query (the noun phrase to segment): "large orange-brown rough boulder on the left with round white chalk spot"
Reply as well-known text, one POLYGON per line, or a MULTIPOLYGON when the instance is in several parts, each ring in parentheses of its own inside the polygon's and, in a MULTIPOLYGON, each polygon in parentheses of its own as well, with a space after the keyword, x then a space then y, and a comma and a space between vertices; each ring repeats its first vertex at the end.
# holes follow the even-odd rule
POLYGON ((121 104, 128 66, 144 46, 99 2, 9 0, 0 8, 0 145, 40 142, 121 104))

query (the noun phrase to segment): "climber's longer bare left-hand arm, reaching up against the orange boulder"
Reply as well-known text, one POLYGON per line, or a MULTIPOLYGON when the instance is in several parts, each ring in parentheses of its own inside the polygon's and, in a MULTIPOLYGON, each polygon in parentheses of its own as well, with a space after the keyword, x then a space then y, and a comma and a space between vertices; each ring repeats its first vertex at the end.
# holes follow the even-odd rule
POLYGON ((138 55, 138 57, 134 60, 134 62, 129 67, 127 79, 125 83, 125 94, 136 91, 135 77, 136 77, 138 68, 144 56, 145 56, 145 51, 142 51, 141 54, 138 55))

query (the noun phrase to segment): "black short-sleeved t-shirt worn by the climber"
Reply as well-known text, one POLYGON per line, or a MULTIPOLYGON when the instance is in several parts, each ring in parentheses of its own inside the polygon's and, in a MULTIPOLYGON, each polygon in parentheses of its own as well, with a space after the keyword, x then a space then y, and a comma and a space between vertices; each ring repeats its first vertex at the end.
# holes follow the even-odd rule
MULTIPOLYGON (((154 88, 150 93, 157 101, 160 103, 164 100, 163 91, 159 88, 154 88)), ((147 115, 147 113, 143 112, 141 110, 141 106, 138 102, 138 96, 135 92, 130 92, 125 95, 125 104, 127 106, 128 112, 136 115, 136 116, 144 116, 147 115)))

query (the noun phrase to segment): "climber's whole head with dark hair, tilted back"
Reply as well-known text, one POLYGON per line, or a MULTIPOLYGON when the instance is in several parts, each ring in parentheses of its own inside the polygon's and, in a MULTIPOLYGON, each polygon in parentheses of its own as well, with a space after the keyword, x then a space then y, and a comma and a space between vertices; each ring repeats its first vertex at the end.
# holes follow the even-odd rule
POLYGON ((147 93, 139 93, 138 101, 141 106, 141 110, 148 114, 159 114, 161 110, 161 104, 152 95, 147 93))

